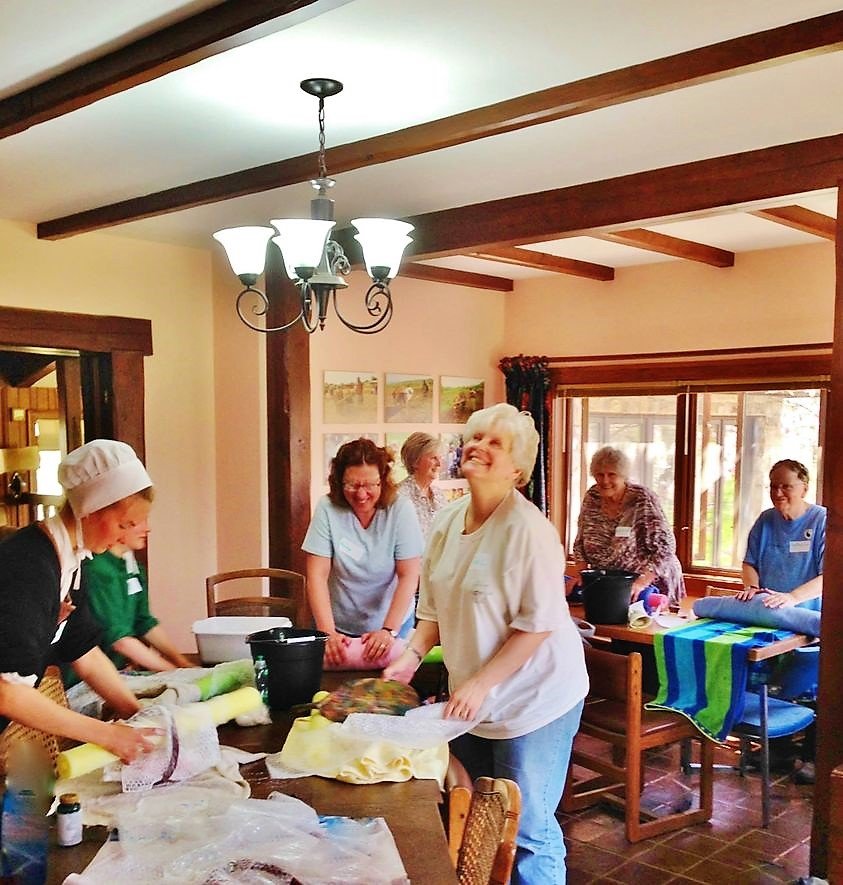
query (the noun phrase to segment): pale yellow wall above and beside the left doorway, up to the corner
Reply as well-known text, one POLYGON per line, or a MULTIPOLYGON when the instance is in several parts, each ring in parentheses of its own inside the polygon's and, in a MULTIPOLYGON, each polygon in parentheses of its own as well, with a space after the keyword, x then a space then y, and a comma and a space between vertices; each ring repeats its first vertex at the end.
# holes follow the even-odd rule
POLYGON ((0 303, 152 321, 144 361, 147 466, 156 486, 149 547, 152 610, 195 648, 204 578, 216 567, 217 444, 208 251, 86 234, 39 241, 0 221, 0 303))

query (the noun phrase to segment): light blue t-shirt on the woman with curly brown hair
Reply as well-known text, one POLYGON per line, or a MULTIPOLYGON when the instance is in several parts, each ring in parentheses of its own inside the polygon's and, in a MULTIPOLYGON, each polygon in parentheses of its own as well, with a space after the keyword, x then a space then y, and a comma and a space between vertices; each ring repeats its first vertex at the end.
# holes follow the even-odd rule
MULTIPOLYGON (((334 625, 358 636, 383 627, 398 583, 395 561, 421 556, 424 540, 407 498, 377 509, 364 529, 354 511, 337 507, 326 495, 316 505, 301 549, 331 560, 328 593, 334 625)), ((405 618, 412 611, 411 603, 405 618)))

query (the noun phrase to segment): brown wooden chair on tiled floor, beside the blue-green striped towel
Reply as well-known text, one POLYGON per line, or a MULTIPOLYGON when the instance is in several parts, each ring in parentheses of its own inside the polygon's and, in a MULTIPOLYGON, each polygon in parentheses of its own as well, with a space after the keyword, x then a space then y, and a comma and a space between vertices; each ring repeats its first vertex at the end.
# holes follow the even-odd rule
POLYGON ((641 691, 641 655, 619 655, 585 649, 591 690, 583 708, 579 734, 604 742, 585 749, 574 742, 571 770, 562 796, 564 811, 579 811, 605 799, 625 808, 626 838, 639 842, 711 818, 714 745, 678 713, 645 710, 641 691), (700 743, 699 807, 653 817, 641 808, 644 752, 693 738, 700 743), (574 781, 574 766, 594 774, 574 781), (642 822, 642 815, 650 819, 642 822))

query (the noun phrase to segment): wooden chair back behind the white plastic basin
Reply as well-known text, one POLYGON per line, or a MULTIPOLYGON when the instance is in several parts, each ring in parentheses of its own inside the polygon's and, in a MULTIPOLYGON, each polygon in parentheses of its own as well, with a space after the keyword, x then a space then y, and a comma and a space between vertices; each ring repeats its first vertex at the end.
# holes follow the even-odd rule
POLYGON ((247 615, 287 617, 294 626, 306 620, 305 578, 299 572, 282 568, 251 568, 233 572, 220 572, 205 579, 208 617, 217 615, 247 615), (235 596, 219 599, 217 588, 227 581, 244 579, 270 580, 270 596, 235 596))

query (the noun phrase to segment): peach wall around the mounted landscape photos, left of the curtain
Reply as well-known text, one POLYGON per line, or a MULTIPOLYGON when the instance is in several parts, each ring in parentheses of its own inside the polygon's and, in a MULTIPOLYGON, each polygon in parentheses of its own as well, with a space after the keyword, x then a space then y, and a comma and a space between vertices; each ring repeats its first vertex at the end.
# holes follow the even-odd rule
MULTIPOLYGON (((351 274, 349 288, 342 293, 343 299, 349 304, 362 303, 367 279, 362 273, 351 274)), ((437 387, 440 375, 483 378, 486 405, 504 398, 503 376, 497 364, 504 355, 501 350, 504 301, 511 293, 505 295, 463 286, 425 283, 400 276, 391 288, 395 313, 382 332, 376 335, 351 332, 333 313, 329 313, 325 330, 311 336, 311 463, 314 477, 311 504, 314 506, 324 493, 321 481, 323 433, 362 433, 365 430, 382 435, 427 429, 438 434, 459 430, 458 425, 439 425, 438 422, 431 425, 385 424, 382 399, 385 373, 427 374, 433 377, 437 387), (381 400, 378 421, 374 425, 323 424, 321 391, 326 369, 359 370, 379 376, 381 400)), ((361 319, 355 316, 357 322, 361 319)))

